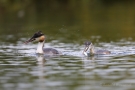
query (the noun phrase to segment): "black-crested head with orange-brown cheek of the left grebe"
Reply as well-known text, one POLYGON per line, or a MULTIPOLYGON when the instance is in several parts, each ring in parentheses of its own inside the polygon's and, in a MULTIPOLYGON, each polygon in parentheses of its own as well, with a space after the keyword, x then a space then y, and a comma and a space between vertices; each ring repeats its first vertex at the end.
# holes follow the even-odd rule
POLYGON ((41 31, 38 31, 25 43, 29 43, 29 42, 32 42, 32 41, 43 42, 44 40, 45 40, 44 34, 41 31))

